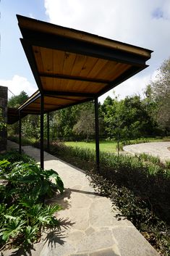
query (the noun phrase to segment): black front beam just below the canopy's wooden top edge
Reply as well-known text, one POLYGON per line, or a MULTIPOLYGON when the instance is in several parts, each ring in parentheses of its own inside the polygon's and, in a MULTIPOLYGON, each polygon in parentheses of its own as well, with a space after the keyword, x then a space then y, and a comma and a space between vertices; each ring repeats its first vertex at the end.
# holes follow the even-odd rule
MULTIPOLYGON (((27 56, 33 55, 33 49, 31 46, 40 46, 47 49, 67 51, 75 54, 107 59, 114 62, 122 62, 129 65, 145 65, 146 60, 149 59, 148 57, 143 57, 141 55, 139 56, 137 54, 132 54, 126 51, 110 49, 104 46, 94 45, 92 43, 78 41, 72 38, 36 33, 32 30, 25 30, 23 35, 25 46, 27 42, 28 51, 32 51, 31 53, 27 52, 27 56)), ((25 49, 25 51, 27 51, 27 49, 25 49)))

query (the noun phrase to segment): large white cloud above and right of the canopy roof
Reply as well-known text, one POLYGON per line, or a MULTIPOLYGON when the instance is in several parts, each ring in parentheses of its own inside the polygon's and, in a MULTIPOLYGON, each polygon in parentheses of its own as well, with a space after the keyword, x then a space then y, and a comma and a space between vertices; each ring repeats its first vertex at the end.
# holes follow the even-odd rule
POLYGON ((44 4, 49 22, 154 51, 149 68, 117 86, 121 97, 142 95, 144 83, 169 57, 169 0, 44 0, 44 4))

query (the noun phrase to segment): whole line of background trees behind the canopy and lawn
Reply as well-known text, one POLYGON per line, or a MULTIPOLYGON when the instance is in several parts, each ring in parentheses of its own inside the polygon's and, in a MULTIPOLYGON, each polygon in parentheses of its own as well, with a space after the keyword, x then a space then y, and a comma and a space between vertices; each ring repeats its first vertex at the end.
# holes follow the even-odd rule
MULTIPOLYGON (((28 98, 22 91, 9 99, 9 107, 18 107, 28 98)), ((100 136, 104 139, 137 139, 167 136, 170 133, 170 58, 158 69, 155 80, 145 89, 145 97, 127 96, 119 100, 108 96, 99 104, 100 136)), ((46 115, 44 118, 46 138, 46 115)), ((17 124, 9 133, 18 133, 17 124)), ((22 120, 23 136, 39 139, 40 117, 27 115, 22 120)), ((95 135, 94 102, 67 107, 50 114, 51 139, 89 140, 95 135)))

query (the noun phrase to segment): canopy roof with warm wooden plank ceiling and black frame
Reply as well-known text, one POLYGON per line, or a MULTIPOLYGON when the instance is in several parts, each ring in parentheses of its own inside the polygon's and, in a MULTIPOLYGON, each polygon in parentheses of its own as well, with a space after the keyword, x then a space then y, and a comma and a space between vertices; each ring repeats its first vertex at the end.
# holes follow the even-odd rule
POLYGON ((38 91, 18 110, 40 113, 90 101, 148 65, 151 52, 79 30, 17 15, 21 43, 38 91))

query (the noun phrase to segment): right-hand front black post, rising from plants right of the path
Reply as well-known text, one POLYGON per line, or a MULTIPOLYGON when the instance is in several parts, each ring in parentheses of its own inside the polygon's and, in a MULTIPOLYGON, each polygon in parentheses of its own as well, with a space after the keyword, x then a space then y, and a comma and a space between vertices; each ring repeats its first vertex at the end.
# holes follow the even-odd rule
POLYGON ((98 97, 95 97, 95 155, 96 169, 100 173, 99 128, 98 128, 98 97))

